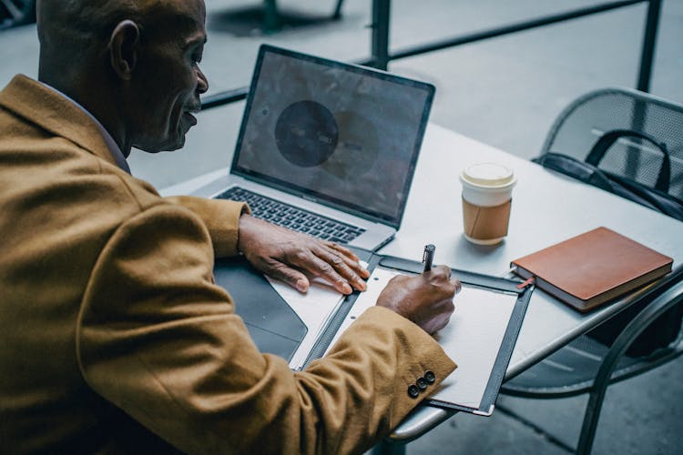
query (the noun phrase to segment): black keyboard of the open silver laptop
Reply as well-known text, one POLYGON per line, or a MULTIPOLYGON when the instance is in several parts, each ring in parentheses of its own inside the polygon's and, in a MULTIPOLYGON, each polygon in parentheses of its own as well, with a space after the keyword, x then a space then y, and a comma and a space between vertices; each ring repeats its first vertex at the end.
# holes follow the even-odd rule
POLYGON ((254 217, 266 219, 273 224, 289 227, 323 240, 344 244, 365 232, 365 229, 361 227, 321 217, 240 187, 230 187, 220 193, 217 198, 246 202, 254 217))

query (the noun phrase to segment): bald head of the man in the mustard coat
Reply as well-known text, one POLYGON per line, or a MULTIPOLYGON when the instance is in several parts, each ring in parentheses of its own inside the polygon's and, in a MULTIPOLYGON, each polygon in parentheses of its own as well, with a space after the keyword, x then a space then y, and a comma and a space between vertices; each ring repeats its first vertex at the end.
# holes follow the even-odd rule
POLYGON ((38 0, 36 15, 41 81, 85 106, 126 154, 182 146, 207 89, 203 0, 38 0))

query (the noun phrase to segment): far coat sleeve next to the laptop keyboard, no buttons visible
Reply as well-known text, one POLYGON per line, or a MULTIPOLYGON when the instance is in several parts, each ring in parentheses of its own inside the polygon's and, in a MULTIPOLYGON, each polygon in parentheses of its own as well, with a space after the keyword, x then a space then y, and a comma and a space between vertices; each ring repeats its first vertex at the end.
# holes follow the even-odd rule
POLYGON ((238 253, 240 215, 251 213, 247 204, 193 196, 174 196, 165 197, 165 199, 189 208, 204 222, 204 225, 209 229, 216 258, 228 258, 238 253))

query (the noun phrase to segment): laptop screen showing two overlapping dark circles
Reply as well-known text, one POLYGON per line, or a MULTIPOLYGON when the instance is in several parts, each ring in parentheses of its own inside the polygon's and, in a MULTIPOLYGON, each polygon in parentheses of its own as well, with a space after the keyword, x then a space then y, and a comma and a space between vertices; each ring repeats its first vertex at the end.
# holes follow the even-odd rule
POLYGON ((261 45, 232 172, 398 228, 433 92, 261 45))

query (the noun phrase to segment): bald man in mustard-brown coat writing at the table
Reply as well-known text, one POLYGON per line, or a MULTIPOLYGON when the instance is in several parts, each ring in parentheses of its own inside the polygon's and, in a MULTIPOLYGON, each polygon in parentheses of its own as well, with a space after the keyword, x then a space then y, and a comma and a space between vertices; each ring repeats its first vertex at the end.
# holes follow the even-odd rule
POLYGON ((214 257, 302 292, 307 275, 362 290, 368 272, 242 204, 162 198, 127 173, 131 147, 182 147, 195 124, 204 22, 202 0, 38 2, 40 82, 0 92, 8 453, 356 453, 454 369, 429 335, 459 287, 443 267, 394 278, 305 371, 260 354, 214 257))

